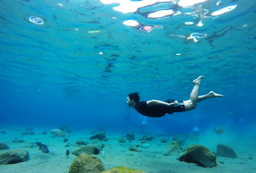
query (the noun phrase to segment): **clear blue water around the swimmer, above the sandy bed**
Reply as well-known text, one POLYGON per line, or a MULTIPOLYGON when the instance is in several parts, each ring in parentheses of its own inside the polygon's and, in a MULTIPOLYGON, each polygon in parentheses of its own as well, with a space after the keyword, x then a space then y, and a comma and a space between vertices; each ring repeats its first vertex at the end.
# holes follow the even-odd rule
POLYGON ((209 10, 207 16, 228 5, 237 7, 203 19, 199 27, 196 16, 149 19, 114 11, 118 4, 99 0, 1 0, 0 126, 52 130, 67 124, 73 130, 136 133, 147 121, 151 134, 222 126, 226 133, 255 139, 256 4, 201 4, 209 10), (31 16, 44 23, 30 22, 31 16), (127 19, 163 27, 142 32, 122 24, 127 19), (185 25, 187 21, 195 24, 185 25), (96 30, 100 32, 88 33, 96 30), (192 33, 207 36, 198 42, 171 36, 192 33), (224 98, 161 118, 145 119, 126 105, 132 92, 139 92, 141 101, 188 100, 192 81, 200 75, 200 95, 214 91, 224 98))

